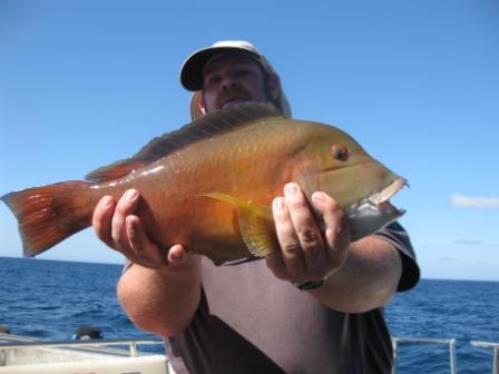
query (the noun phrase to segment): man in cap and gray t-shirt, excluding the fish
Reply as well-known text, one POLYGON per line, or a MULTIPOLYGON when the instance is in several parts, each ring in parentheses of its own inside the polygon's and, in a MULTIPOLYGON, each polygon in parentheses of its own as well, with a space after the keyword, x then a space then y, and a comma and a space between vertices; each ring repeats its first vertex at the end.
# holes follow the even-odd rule
MULTIPOLYGON (((180 81, 200 91, 194 116, 244 101, 274 102, 290 115, 278 76, 247 42, 197 51, 180 81)), ((382 306, 419 279, 400 225, 351 243, 336 201, 316 191, 311 204, 325 222, 321 233, 290 183, 272 207, 281 252, 216 267, 180 244, 162 252, 134 215, 138 200, 136 190, 117 203, 102 198, 94 227, 131 260, 118 297, 138 327, 165 336, 178 373, 390 373, 382 306)))

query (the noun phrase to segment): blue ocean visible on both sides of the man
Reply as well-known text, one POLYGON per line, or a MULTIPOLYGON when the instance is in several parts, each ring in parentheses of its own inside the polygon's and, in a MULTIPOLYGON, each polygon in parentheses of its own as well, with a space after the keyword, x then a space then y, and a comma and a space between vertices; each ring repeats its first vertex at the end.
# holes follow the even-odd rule
MULTIPOLYGON (((137 329, 116 298, 120 265, 0 257, 0 325, 12 334, 70 339, 81 325, 105 338, 157 337, 137 329)), ((456 338, 458 373, 490 373, 492 352, 470 341, 499 342, 499 283, 422 279, 385 308, 391 335, 456 338)), ((162 352, 162 347, 156 348, 162 352)), ((450 373, 447 345, 400 345, 398 373, 450 373)))

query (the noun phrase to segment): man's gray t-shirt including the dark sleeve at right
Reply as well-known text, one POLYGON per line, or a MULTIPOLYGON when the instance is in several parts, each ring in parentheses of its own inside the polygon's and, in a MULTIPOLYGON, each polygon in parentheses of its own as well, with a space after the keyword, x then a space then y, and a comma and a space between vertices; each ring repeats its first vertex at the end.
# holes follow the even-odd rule
MULTIPOLYGON (((401 254, 399 291, 419 280, 399 224, 380 232, 401 254)), ((203 260, 202 302, 189 327, 165 338, 182 373, 390 373, 392 346, 381 308, 332 311, 275 278, 264 260, 216 267, 203 260)))

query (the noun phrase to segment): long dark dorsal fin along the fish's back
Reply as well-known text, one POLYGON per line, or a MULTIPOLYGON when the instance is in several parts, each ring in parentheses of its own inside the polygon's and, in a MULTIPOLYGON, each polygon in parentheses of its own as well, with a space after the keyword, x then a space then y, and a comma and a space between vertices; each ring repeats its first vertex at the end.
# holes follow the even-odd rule
POLYGON ((282 115, 271 104, 247 102, 217 110, 176 131, 154 138, 131 158, 94 170, 86 179, 92 183, 117 179, 193 142, 253 124, 258 119, 277 116, 282 115))

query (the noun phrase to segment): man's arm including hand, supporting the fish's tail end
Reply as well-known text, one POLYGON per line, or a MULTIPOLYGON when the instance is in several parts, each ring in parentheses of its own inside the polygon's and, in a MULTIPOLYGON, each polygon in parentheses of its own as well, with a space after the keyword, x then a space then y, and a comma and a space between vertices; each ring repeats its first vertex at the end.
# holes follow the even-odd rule
POLYGON ((145 331, 173 336, 188 326, 200 299, 200 257, 173 246, 166 254, 147 237, 134 215, 139 200, 127 191, 116 204, 104 197, 92 226, 109 247, 133 264, 118 283, 118 298, 130 319, 145 331))

